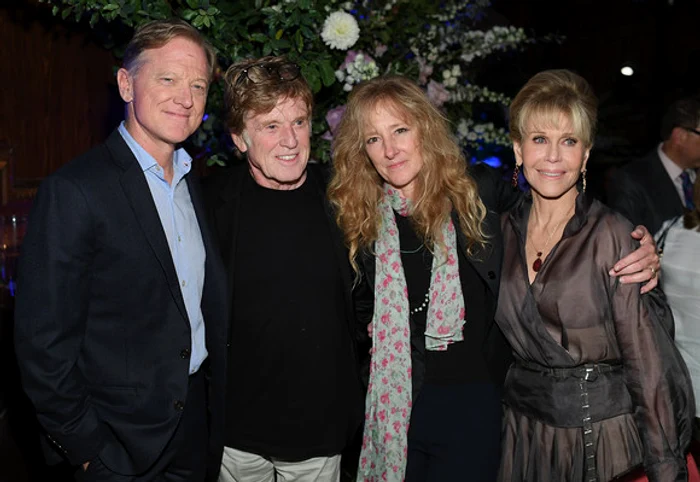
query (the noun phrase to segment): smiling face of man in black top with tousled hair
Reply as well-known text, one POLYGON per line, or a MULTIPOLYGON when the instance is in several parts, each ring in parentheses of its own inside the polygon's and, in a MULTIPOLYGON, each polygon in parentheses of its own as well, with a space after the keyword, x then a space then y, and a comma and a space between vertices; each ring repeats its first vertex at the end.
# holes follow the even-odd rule
POLYGON ((243 133, 231 138, 248 153, 250 172, 268 189, 296 189, 306 179, 311 126, 306 103, 280 99, 266 114, 246 116, 243 133))

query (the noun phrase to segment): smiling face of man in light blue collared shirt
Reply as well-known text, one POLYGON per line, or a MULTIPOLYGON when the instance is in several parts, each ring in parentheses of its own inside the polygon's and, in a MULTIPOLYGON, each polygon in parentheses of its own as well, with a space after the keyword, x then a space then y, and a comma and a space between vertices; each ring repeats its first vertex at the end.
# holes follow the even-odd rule
POLYGON ((145 50, 136 70, 119 69, 119 94, 128 103, 126 129, 156 159, 202 123, 208 73, 204 50, 184 37, 145 50))

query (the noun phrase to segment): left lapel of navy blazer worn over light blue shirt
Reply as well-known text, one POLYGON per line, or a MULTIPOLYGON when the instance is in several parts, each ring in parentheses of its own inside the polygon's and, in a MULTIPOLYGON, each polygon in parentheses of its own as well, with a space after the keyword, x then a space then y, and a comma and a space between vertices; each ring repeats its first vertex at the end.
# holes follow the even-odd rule
POLYGON ((189 324, 189 317, 187 316, 185 301, 180 291, 180 283, 178 282, 175 264, 168 247, 168 240, 141 166, 118 131, 113 132, 105 144, 114 161, 124 169, 119 180, 124 194, 129 200, 134 217, 151 246, 153 254, 163 268, 163 274, 175 304, 180 310, 182 318, 189 324))

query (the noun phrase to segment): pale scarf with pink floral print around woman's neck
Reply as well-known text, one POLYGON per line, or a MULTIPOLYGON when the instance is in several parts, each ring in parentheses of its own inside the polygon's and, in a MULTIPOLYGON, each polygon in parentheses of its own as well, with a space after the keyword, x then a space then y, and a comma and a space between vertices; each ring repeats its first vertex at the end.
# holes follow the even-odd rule
MULTIPOLYGON (((394 210, 406 216, 412 205, 385 184, 378 209, 382 223, 375 244, 372 362, 357 480, 401 482, 406 471, 412 405, 411 330, 394 210)), ((446 250, 436 250, 433 256, 425 330, 425 347, 435 351, 462 341, 465 314, 457 236, 451 219, 445 223, 442 235, 446 250)))

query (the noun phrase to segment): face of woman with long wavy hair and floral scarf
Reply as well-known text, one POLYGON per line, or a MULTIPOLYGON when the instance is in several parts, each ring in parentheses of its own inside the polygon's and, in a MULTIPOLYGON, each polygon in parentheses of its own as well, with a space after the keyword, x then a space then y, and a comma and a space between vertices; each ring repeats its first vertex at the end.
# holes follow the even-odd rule
POLYGON ((372 109, 363 127, 365 151, 385 182, 403 197, 414 199, 423 153, 417 126, 386 103, 372 109))

